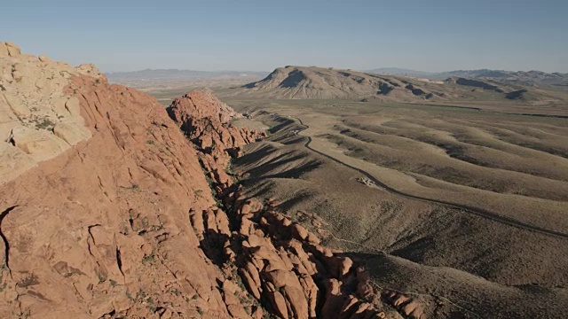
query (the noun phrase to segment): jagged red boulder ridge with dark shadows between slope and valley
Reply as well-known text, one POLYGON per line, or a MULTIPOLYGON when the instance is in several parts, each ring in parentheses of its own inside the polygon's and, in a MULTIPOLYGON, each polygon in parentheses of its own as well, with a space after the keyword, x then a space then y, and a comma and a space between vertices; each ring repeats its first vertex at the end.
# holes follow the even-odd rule
MULTIPOLYGON (((201 146, 201 164, 219 200, 218 207, 190 213, 193 230, 209 259, 246 287, 248 300, 253 300, 248 301, 247 313, 254 312, 256 301, 272 315, 286 319, 397 317, 398 313, 383 303, 381 293, 375 292, 364 268, 349 256, 321 246, 314 232, 277 212, 272 201, 263 204, 240 195, 233 176, 225 174, 229 155, 262 134, 227 125, 234 117, 233 110, 218 100, 210 101, 215 101, 210 92, 193 91, 177 98, 168 111, 201 146), (200 105, 215 112, 200 110, 200 105), (227 131, 232 136, 250 137, 223 139, 227 131)), ((327 235, 319 229, 324 221, 305 215, 318 233, 327 235)), ((422 318, 420 307, 416 309, 408 314, 399 311, 422 318)))

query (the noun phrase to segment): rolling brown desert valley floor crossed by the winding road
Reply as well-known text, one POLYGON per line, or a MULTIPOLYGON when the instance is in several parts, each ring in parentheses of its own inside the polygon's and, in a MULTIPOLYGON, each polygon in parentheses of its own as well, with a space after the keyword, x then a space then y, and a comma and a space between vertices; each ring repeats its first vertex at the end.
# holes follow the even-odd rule
POLYGON ((271 132, 233 163, 245 190, 293 220, 321 216, 327 245, 365 261, 375 284, 473 317, 565 310, 568 112, 225 102, 271 132))

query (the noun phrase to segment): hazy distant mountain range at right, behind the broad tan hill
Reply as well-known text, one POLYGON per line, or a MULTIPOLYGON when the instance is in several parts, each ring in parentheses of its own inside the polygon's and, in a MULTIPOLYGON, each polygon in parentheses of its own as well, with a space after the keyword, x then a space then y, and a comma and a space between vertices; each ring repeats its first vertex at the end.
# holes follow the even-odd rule
POLYGON ((457 70, 450 72, 430 73, 402 69, 397 67, 383 67, 367 72, 375 74, 390 74, 402 76, 414 76, 430 80, 446 80, 452 77, 461 77, 466 79, 485 79, 494 82, 519 84, 541 89, 561 89, 568 90, 568 74, 562 73, 546 73, 541 71, 504 71, 504 70, 457 70))

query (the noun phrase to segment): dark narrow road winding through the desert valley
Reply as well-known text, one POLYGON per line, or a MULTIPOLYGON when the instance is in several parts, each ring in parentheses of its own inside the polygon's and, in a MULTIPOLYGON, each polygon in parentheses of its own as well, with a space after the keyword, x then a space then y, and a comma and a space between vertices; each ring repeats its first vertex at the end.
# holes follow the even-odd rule
POLYGON ((294 134, 296 136, 303 136, 303 137, 307 138, 307 141, 304 144, 305 148, 309 149, 312 152, 316 152, 319 155, 326 157, 327 159, 331 159, 331 160, 335 161, 336 163, 343 165, 344 167, 349 167, 351 169, 358 171, 360 174, 365 175, 369 180, 373 181, 377 186, 383 188, 384 191, 389 191, 392 194, 396 194, 396 195, 404 197, 404 198, 411 198, 411 199, 420 200, 420 201, 423 201, 423 202, 428 202, 428 203, 432 203, 432 204, 438 204, 438 205, 443 205, 443 206, 448 206, 448 207, 452 207, 452 208, 455 208, 455 209, 459 209, 461 212, 464 212, 464 213, 467 213, 467 214, 474 214, 474 215, 477 215, 479 217, 489 219, 493 222, 501 222, 503 224, 509 225, 511 227, 515 227, 515 228, 520 229, 520 230, 529 230, 529 231, 533 231, 533 232, 540 233, 542 235, 546 235, 546 236, 550 236, 550 237, 558 237, 558 238, 562 238, 562 239, 568 239, 568 234, 564 234, 564 233, 561 233, 561 232, 558 232, 558 231, 555 231, 555 230, 543 229, 543 228, 540 228, 538 226, 533 226, 533 225, 527 224, 525 222, 519 222, 519 221, 514 220, 512 218, 509 218, 509 217, 503 217, 503 216, 500 216, 500 215, 497 215, 497 214, 493 214, 489 211, 486 211, 485 209, 461 205, 461 204, 455 204, 455 203, 447 202, 447 201, 444 201, 444 200, 423 198, 423 197, 420 197, 420 196, 407 194, 405 192, 393 189, 389 185, 382 183, 381 181, 376 179, 375 176, 367 173, 365 170, 360 169, 358 167, 353 167, 353 166, 343 162, 340 159, 335 159, 334 157, 327 155, 324 152, 319 152, 318 150, 313 149, 312 146, 310 146, 310 144, 312 143, 312 137, 311 136, 299 135, 300 132, 302 132, 305 129, 308 129, 310 127, 305 125, 304 122, 302 120, 298 119, 298 118, 290 117, 290 119, 294 119, 294 120, 298 121, 300 123, 300 125, 302 125, 303 128, 296 130, 294 132, 294 134))

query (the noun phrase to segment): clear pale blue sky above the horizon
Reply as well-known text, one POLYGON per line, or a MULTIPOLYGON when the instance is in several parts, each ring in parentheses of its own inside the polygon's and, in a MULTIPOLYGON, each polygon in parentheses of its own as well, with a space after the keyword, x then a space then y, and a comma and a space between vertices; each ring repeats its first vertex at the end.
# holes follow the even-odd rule
POLYGON ((17 0, 0 40, 105 72, 277 66, 568 72, 568 1, 17 0))

